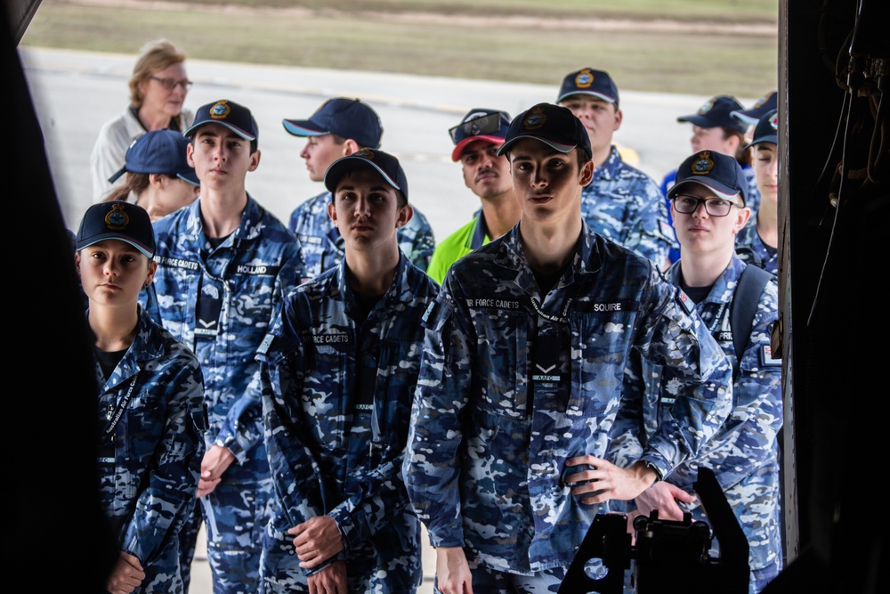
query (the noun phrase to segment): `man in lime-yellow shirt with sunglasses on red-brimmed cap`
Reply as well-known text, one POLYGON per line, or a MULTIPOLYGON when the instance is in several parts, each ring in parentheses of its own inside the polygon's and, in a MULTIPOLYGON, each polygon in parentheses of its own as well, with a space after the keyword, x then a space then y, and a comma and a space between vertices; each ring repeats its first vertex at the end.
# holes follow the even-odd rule
POLYGON ((509 126, 510 114, 506 111, 477 108, 449 129, 454 142, 451 160, 460 161, 464 183, 479 197, 481 208, 472 221, 436 245, 426 273, 439 284, 458 258, 498 239, 522 216, 510 178, 510 163, 498 155, 509 126))

